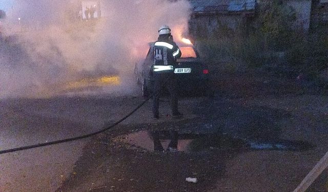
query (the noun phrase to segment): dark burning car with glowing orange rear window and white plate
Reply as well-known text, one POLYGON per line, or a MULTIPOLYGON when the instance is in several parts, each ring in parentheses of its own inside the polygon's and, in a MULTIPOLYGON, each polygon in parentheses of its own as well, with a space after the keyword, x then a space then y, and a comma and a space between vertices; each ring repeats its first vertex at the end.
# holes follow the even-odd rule
MULTIPOLYGON (((178 67, 174 73, 178 78, 180 93, 208 94, 209 92, 209 70, 202 62, 197 50, 188 39, 186 42, 177 42, 181 50, 181 57, 177 59, 178 67)), ((145 59, 135 63, 134 76, 143 96, 149 96, 153 90, 153 79, 150 75, 151 66, 154 62, 154 42, 149 43, 149 50, 145 59)))

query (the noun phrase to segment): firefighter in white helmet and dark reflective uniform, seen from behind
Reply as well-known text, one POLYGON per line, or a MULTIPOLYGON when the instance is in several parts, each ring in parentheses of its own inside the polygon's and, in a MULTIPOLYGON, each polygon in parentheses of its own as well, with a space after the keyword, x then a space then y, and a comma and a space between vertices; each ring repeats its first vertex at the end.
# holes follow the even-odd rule
POLYGON ((178 111, 177 79, 174 74, 176 59, 181 56, 181 51, 173 41, 169 26, 161 26, 158 34, 158 39, 154 44, 154 65, 151 69, 154 80, 153 115, 154 118, 159 118, 160 92, 167 88, 171 97, 172 115, 181 117, 182 114, 178 111))

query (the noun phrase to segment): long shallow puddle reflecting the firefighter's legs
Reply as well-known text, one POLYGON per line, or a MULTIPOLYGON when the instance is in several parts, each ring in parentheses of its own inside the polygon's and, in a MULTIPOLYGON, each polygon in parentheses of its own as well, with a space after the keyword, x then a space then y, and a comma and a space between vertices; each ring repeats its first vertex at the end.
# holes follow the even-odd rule
POLYGON ((181 134, 176 131, 139 131, 124 137, 124 141, 148 151, 199 152, 209 150, 280 150, 306 151, 315 147, 304 141, 277 140, 255 142, 224 134, 181 134))

